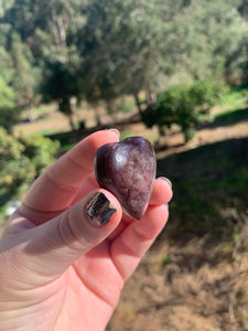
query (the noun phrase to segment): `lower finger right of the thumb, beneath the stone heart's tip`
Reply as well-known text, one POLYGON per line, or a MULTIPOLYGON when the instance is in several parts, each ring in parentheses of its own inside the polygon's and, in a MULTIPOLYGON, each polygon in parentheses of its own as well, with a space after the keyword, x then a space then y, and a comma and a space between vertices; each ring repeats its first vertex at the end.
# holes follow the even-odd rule
POLYGON ((112 260, 126 280, 137 268, 164 227, 169 212, 166 205, 150 205, 140 221, 131 222, 110 246, 112 260))

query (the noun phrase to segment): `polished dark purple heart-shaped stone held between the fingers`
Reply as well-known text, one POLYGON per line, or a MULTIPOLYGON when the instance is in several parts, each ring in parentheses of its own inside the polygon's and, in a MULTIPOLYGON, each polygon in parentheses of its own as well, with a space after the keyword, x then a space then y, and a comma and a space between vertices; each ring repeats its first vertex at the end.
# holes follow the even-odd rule
POLYGON ((95 173, 100 188, 110 191, 136 220, 147 210, 155 171, 154 150, 141 137, 104 145, 96 153, 95 173))

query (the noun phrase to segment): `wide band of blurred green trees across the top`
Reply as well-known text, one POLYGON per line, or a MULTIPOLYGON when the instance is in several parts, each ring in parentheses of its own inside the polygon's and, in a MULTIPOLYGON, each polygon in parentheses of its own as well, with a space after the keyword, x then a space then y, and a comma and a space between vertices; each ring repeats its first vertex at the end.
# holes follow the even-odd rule
POLYGON ((132 95, 139 106, 141 90, 150 105, 170 77, 238 79, 247 56, 245 1, 6 2, 0 72, 22 107, 42 94, 72 117, 73 97, 108 105, 132 95))

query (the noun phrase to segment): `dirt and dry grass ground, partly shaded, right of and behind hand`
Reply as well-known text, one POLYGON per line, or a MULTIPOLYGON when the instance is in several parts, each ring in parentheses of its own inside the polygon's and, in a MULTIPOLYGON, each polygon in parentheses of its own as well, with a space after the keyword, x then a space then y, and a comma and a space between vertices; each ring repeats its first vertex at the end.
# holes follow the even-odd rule
MULTIPOLYGON (((94 125, 93 113, 80 119, 94 125)), ((15 132, 55 127, 68 129, 57 111, 15 132)), ((120 128, 158 140, 157 129, 142 124, 120 128)), ((247 186, 240 180, 247 138, 246 110, 239 119, 203 125, 187 145, 176 130, 160 140, 158 175, 169 177, 175 192, 170 220, 126 284, 108 331, 248 330, 247 186)))

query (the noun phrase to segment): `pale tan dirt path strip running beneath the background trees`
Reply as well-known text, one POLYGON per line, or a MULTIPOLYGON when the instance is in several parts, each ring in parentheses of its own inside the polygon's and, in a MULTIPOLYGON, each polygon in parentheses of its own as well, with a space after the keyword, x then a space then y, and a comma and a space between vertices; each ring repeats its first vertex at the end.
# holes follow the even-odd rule
MULTIPOLYGON (((106 115, 103 110, 101 121, 103 124, 109 124, 112 119, 109 115, 106 115)), ((126 119, 130 116, 130 113, 122 115, 119 114, 116 116, 116 120, 126 119)), ((96 125, 95 111, 88 109, 87 111, 82 111, 75 116, 77 120, 85 120, 86 127, 94 127, 96 125)), ((23 122, 14 128, 14 134, 19 135, 20 132, 24 135, 31 135, 37 131, 50 132, 56 130, 57 132, 68 131, 69 124, 65 115, 60 111, 53 111, 50 116, 40 119, 34 122, 23 122)), ((122 134, 143 136, 150 139, 152 142, 159 139, 158 130, 147 129, 145 126, 141 122, 131 124, 125 126, 125 131, 122 134)), ((166 149, 163 150, 162 156, 172 154, 174 152, 181 152, 183 150, 196 148, 206 143, 213 143, 215 141, 222 141, 229 138, 241 138, 248 136, 248 121, 241 121, 236 125, 219 126, 215 128, 205 128, 197 131, 197 135, 187 143, 184 145, 184 138, 182 134, 174 134, 173 131, 160 140, 162 146, 166 146, 166 149)), ((161 152, 160 152, 161 154, 161 152)))

